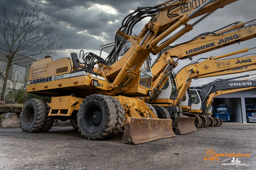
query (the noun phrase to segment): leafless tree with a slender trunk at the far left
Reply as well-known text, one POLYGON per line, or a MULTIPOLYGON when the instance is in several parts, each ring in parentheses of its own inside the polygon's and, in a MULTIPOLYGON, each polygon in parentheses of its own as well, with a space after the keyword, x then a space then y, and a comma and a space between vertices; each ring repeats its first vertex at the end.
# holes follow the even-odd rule
POLYGON ((25 6, 14 9, 12 16, 8 17, 5 7, 2 6, 0 47, 6 49, 8 54, 1 57, 6 62, 6 69, 0 100, 4 100, 8 73, 13 64, 28 63, 42 54, 55 55, 55 50, 61 48, 58 45, 60 38, 52 34, 50 18, 44 16, 37 7, 34 5, 30 9, 25 6))

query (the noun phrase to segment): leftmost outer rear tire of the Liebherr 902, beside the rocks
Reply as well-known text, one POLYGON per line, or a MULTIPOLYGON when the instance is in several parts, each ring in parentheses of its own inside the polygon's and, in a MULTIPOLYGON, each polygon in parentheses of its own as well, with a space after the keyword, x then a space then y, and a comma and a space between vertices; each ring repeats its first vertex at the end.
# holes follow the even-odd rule
POLYGON ((30 99, 25 103, 21 113, 21 128, 24 132, 39 132, 46 121, 46 107, 39 99, 30 99))

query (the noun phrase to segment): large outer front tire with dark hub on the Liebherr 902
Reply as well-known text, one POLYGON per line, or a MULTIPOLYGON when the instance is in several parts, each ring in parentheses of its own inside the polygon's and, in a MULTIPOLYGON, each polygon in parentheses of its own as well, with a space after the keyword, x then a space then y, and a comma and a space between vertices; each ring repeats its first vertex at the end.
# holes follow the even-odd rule
POLYGON ((78 109, 78 130, 87 139, 104 139, 116 128, 116 112, 115 104, 108 96, 87 96, 78 109))

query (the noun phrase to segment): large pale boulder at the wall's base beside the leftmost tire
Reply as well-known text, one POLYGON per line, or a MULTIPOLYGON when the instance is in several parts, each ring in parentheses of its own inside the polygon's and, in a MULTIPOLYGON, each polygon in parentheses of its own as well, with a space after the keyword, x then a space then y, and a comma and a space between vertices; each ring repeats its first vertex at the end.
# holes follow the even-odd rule
POLYGON ((2 127, 20 127, 20 118, 16 113, 2 113, 5 118, 2 119, 2 127))

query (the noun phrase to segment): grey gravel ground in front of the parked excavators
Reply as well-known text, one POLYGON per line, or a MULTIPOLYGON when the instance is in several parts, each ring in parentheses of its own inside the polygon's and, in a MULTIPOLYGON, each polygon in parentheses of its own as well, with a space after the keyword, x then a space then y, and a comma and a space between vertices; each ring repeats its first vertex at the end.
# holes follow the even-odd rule
MULTIPOLYGON (((175 131, 174 131, 175 132, 175 131)), ((123 132, 104 141, 84 139, 72 127, 52 127, 44 133, 24 133, 20 128, 0 129, 1 170, 236 170, 256 169, 256 125, 224 123, 220 127, 198 128, 140 145, 122 143, 123 132), (235 156, 241 164, 231 164, 233 156, 204 160, 206 150, 235 156), (249 165, 248 165, 249 164, 249 165)))

